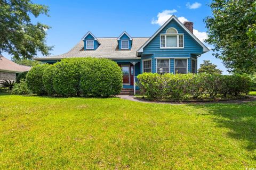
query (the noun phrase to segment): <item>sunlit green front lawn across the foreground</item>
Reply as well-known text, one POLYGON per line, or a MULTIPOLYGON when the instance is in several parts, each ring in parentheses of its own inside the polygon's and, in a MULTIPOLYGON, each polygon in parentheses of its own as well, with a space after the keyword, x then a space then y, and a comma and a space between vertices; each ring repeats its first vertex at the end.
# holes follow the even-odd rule
POLYGON ((256 103, 0 96, 0 169, 256 168, 256 103))

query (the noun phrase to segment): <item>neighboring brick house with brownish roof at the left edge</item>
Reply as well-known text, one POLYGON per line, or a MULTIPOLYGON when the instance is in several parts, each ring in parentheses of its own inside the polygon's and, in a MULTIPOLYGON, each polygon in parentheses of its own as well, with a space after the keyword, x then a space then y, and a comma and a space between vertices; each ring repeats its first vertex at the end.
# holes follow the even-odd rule
POLYGON ((29 71, 31 67, 16 64, 7 58, 0 56, 0 81, 16 80, 16 75, 25 71, 29 71))

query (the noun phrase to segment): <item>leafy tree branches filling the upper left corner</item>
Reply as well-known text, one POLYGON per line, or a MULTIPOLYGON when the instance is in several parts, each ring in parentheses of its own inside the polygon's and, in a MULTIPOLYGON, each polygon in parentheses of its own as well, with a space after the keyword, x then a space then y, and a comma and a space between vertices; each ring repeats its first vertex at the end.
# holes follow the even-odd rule
POLYGON ((46 46, 46 30, 50 27, 30 16, 49 16, 48 7, 34 4, 31 0, 0 0, 0 55, 3 52, 14 58, 32 58, 41 52, 48 55, 52 47, 46 46))

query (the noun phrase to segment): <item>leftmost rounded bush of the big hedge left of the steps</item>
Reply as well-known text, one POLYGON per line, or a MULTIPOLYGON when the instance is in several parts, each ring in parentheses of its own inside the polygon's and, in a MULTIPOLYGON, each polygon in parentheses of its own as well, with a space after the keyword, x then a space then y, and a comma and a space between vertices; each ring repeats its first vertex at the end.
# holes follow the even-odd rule
POLYGON ((26 75, 26 82, 28 88, 37 95, 46 94, 44 85, 43 85, 43 73, 44 70, 49 67, 49 64, 41 64, 32 67, 32 69, 26 75))

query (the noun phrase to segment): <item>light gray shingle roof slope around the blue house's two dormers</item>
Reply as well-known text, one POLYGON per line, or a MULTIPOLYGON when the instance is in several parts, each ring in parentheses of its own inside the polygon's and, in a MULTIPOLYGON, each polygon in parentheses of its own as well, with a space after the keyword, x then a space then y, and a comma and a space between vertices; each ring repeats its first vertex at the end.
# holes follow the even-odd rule
POLYGON ((96 50, 84 50, 84 41, 81 40, 69 52, 48 56, 36 57, 35 60, 57 60, 69 57, 97 57, 110 59, 137 58, 137 50, 146 43, 149 38, 133 38, 131 50, 119 50, 117 38, 98 38, 101 45, 96 50))

